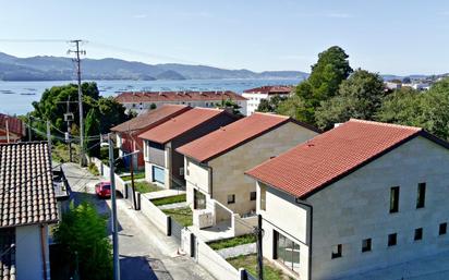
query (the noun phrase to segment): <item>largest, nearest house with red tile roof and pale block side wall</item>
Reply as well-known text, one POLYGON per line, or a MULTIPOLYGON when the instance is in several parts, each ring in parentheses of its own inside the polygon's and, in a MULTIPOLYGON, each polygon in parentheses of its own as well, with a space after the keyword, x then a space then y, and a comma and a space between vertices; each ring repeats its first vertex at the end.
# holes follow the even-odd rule
POLYGON ((420 127, 350 120, 250 169, 264 257, 340 279, 448 251, 448 148, 420 127))

